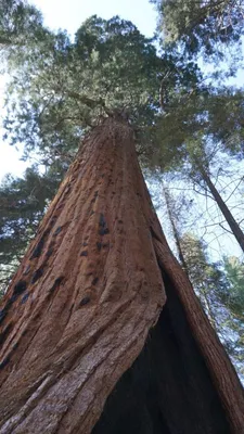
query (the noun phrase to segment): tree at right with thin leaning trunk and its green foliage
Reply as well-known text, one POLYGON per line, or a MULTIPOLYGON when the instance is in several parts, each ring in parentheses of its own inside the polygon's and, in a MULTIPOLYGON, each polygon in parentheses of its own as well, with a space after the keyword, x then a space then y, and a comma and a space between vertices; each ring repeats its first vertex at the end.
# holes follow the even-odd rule
POLYGON ((219 155, 221 166, 221 153, 234 158, 243 156, 243 94, 233 89, 216 89, 216 93, 196 89, 177 107, 175 98, 172 95, 164 115, 157 119, 157 165, 164 170, 182 174, 209 192, 244 251, 244 233, 211 175, 219 155))

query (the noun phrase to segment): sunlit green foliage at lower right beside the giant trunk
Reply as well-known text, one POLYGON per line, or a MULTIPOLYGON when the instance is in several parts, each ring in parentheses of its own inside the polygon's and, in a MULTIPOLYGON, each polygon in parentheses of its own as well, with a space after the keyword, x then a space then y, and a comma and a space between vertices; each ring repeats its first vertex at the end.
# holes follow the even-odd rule
POLYGON ((244 375, 244 266, 237 258, 211 263, 206 244, 190 233, 180 239, 190 280, 200 301, 232 357, 240 375, 244 375))

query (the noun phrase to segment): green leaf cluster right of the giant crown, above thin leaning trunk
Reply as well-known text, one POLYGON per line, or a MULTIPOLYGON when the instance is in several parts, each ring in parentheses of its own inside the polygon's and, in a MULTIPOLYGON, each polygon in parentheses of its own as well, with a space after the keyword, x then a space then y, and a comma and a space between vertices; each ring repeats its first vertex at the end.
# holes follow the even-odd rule
POLYGON ((198 86, 180 101, 170 99, 168 112, 158 117, 155 131, 158 166, 163 170, 180 169, 185 162, 194 165, 197 158, 206 167, 217 151, 242 158, 243 116, 241 89, 198 86))

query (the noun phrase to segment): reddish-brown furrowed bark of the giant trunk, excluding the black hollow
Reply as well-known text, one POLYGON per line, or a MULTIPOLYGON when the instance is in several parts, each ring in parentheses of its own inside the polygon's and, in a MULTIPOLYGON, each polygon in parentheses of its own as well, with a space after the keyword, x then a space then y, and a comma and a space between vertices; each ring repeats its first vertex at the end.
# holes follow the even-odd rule
POLYGON ((113 118, 85 141, 3 299, 0 433, 90 433, 158 320, 163 276, 242 433, 237 376, 163 235, 133 132, 113 118))

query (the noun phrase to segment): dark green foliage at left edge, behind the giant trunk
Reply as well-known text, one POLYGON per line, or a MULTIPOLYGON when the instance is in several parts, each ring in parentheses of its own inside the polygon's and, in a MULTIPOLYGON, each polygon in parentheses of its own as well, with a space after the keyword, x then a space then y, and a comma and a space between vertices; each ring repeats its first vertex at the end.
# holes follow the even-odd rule
POLYGON ((44 175, 30 167, 24 178, 7 176, 3 180, 0 188, 0 292, 17 268, 63 176, 63 167, 56 165, 44 175))

